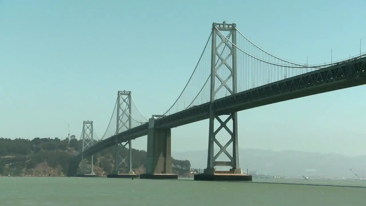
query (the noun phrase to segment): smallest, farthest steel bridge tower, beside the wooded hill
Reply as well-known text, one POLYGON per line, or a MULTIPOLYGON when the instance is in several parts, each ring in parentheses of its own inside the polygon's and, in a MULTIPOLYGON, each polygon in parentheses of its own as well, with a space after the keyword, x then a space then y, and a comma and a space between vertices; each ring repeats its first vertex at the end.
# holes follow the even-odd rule
POLYGON ((84 121, 83 122, 83 131, 82 131, 82 153, 81 153, 81 174, 94 174, 93 170, 93 155, 91 155, 90 165, 86 164, 86 159, 84 158, 84 151, 93 146, 93 121, 84 121))

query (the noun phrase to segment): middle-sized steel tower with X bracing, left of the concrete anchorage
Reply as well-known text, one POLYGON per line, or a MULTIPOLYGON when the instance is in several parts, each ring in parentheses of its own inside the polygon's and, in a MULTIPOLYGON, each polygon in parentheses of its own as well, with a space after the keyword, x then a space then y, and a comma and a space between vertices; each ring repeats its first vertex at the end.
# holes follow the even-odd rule
MULTIPOLYGON (((116 125, 116 134, 124 132, 128 129, 131 129, 131 106, 132 106, 132 98, 131 91, 118 91, 117 96, 117 125, 116 125), (127 118, 126 118, 127 117, 127 118), (126 120, 123 120, 126 119, 126 120)), ((115 171, 114 173, 118 173, 118 170, 121 169, 121 165, 126 165, 128 167, 129 173, 132 173, 132 148, 131 148, 131 140, 128 140, 126 143, 118 143, 116 140, 116 156, 115 156, 115 171), (128 144, 128 162, 126 162, 127 157, 122 157, 119 154, 119 146, 126 148, 128 144)))

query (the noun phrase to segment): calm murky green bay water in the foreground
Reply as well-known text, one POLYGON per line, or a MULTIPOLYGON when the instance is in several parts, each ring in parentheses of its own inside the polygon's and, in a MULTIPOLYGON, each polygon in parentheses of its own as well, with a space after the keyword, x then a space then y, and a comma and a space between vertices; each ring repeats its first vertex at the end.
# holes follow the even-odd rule
POLYGON ((366 181, 362 180, 254 179, 254 181, 257 182, 1 177, 0 206, 366 206, 366 181), (365 188, 265 182, 348 185, 365 188))

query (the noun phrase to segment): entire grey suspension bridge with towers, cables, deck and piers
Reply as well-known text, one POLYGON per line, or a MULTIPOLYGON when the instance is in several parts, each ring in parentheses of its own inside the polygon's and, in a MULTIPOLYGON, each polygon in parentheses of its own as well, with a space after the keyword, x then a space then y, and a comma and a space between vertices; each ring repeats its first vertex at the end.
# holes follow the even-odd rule
MULTIPOLYGON (((79 169, 82 173, 85 157, 122 143, 129 145, 127 162, 129 173, 133 174, 131 140, 147 135, 146 174, 141 174, 140 178, 158 178, 158 174, 175 178, 169 177, 172 173, 171 128, 209 119, 207 168, 195 175, 195 180, 228 180, 229 177, 251 180, 244 177, 239 166, 238 111, 363 85, 366 84, 365 69, 366 54, 322 65, 281 59, 251 42, 235 23, 214 22, 191 77, 172 106, 163 114, 146 118, 138 110, 132 93, 119 91, 102 140, 93 145, 85 144, 70 162, 67 175, 76 175, 79 162, 82 162, 79 169), (132 114, 132 111, 137 112, 132 114), (216 138, 222 129, 229 137, 226 143, 216 138), (214 151, 216 145, 218 151, 214 151), (217 161, 223 153, 228 161, 217 161), (217 171, 216 166, 231 169, 217 171)), ((83 142, 93 139, 88 135, 83 137, 83 142)), ((119 159, 116 150, 115 173, 120 162, 124 162, 119 159)))

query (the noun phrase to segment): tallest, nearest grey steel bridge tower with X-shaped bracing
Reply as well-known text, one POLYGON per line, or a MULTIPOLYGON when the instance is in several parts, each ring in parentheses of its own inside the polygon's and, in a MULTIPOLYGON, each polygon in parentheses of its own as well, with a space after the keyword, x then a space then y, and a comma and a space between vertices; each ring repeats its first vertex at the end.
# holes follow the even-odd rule
POLYGON ((236 75, 236 47, 232 45, 226 38, 230 39, 233 44, 236 45, 236 24, 223 23, 212 24, 212 56, 211 56, 211 89, 210 89, 210 110, 209 110, 209 144, 208 144, 208 159, 207 168, 205 173, 214 173, 215 166, 231 166, 231 171, 234 173, 242 173, 239 168, 239 154, 238 154, 238 119, 237 113, 228 113, 226 120, 221 120, 219 115, 215 114, 213 103, 216 98, 216 94, 221 88, 225 88, 230 95, 237 93, 237 75, 236 75), (229 32, 225 38, 219 31, 229 32), (219 41, 217 41, 219 40, 219 41), (219 51, 222 46, 229 49, 230 52, 219 51), (228 54, 227 54, 228 53, 228 54), (231 58, 231 59, 230 59, 231 58), (228 77, 220 76, 218 73, 221 67, 225 67, 229 71, 228 77), (216 81, 219 80, 219 81, 216 81), (232 83, 230 84, 230 81, 232 83), (215 85, 219 82, 219 85, 215 85), (231 87, 229 86, 231 85, 231 87), (214 130, 214 120, 217 120, 220 124, 219 128, 214 130), (227 123, 232 121, 232 128, 228 128, 227 123), (229 135, 229 141, 222 145, 217 139, 216 135, 221 129, 225 129, 229 135), (214 155, 214 143, 220 147, 220 151, 214 155), (232 155, 227 151, 227 147, 232 145, 232 155), (230 161, 216 161, 216 159, 225 153, 230 161))

